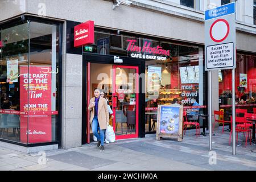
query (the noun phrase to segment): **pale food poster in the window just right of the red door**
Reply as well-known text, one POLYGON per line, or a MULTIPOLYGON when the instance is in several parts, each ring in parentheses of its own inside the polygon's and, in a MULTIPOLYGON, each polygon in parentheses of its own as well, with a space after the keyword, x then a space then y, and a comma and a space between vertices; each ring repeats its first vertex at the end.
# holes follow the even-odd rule
POLYGON ((149 99, 158 98, 161 82, 161 67, 148 66, 147 72, 147 92, 149 99))

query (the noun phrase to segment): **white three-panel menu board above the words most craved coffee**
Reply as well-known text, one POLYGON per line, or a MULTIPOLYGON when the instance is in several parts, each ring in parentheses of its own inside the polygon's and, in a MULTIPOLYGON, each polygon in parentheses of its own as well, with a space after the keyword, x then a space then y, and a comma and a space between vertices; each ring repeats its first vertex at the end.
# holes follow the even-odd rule
POLYGON ((199 66, 180 67, 181 84, 199 83, 199 66))

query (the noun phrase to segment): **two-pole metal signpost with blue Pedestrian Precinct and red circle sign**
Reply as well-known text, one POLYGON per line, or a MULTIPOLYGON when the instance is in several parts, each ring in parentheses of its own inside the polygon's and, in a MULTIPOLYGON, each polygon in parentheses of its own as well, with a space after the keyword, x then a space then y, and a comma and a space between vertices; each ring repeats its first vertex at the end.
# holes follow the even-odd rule
POLYGON ((205 11, 205 71, 209 71, 209 150, 212 150, 212 70, 232 69, 232 142, 235 138, 236 3, 205 11))

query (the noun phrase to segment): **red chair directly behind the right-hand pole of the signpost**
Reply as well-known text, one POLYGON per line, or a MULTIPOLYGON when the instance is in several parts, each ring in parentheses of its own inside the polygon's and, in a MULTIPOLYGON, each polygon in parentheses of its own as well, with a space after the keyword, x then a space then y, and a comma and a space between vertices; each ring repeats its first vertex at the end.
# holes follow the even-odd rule
MULTIPOLYGON (((232 117, 230 117, 230 120, 232 121, 232 117)), ((246 127, 247 119, 245 117, 236 117, 236 122, 241 123, 240 126, 237 125, 236 132, 237 132, 237 142, 238 142, 238 133, 243 132, 246 133, 245 135, 245 146, 247 146, 247 138, 250 139, 250 145, 251 145, 251 130, 249 127, 246 127)), ((231 131, 229 135, 229 145, 231 143, 231 134, 232 134, 232 122, 231 122, 231 131)))

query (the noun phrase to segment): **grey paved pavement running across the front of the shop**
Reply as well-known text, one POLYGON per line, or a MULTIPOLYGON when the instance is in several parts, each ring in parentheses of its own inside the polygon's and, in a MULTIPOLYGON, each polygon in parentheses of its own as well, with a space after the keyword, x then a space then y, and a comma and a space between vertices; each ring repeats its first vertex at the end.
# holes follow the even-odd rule
POLYGON ((247 143, 243 134, 238 137, 237 154, 228 145, 229 132, 221 129, 213 136, 209 153, 209 135, 196 137, 187 130, 183 142, 174 139, 156 140, 155 134, 146 138, 118 140, 105 144, 101 152, 95 143, 69 150, 26 154, 0 147, 1 171, 255 171, 256 144, 247 143))

